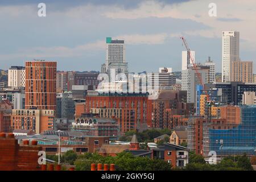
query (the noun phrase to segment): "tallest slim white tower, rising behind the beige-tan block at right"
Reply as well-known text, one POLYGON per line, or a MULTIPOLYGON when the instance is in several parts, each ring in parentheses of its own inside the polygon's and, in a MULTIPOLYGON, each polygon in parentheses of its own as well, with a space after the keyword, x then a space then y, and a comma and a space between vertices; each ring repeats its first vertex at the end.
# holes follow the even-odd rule
POLYGON ((239 32, 222 31, 222 82, 231 81, 232 61, 240 60, 239 37, 239 32))

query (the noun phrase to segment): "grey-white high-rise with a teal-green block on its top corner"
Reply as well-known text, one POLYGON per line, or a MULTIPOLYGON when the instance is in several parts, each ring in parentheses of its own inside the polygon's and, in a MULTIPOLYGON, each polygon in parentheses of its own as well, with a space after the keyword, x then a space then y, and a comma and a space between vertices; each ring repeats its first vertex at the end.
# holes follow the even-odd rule
POLYGON ((110 63, 126 63, 124 40, 112 40, 112 38, 106 38, 106 72, 108 72, 110 63))

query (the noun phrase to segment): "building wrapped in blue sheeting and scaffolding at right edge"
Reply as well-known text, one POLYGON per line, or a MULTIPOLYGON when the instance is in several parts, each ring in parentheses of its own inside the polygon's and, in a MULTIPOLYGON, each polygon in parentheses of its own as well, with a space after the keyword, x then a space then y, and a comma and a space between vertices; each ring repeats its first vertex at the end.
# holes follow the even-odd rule
POLYGON ((256 155, 256 106, 241 106, 241 123, 233 129, 209 129, 206 123, 203 143, 205 155, 209 151, 218 156, 256 155))

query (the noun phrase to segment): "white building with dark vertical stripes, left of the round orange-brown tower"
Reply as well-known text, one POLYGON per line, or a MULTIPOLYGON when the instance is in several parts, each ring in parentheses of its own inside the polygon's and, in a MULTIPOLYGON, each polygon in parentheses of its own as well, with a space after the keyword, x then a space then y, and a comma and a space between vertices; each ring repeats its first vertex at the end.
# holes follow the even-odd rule
POLYGON ((8 86, 9 87, 25 87, 25 67, 12 66, 8 70, 8 86))

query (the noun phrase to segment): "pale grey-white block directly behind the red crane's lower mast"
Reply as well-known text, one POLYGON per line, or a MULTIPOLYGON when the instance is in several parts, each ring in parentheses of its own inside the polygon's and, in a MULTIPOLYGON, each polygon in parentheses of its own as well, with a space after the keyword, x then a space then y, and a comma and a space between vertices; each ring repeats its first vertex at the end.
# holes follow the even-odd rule
MULTIPOLYGON (((198 69, 198 72, 201 75, 203 84, 208 84, 209 69, 198 69)), ((187 102, 192 102, 196 105, 196 85, 200 84, 195 69, 181 71, 181 90, 187 91, 187 102)))

